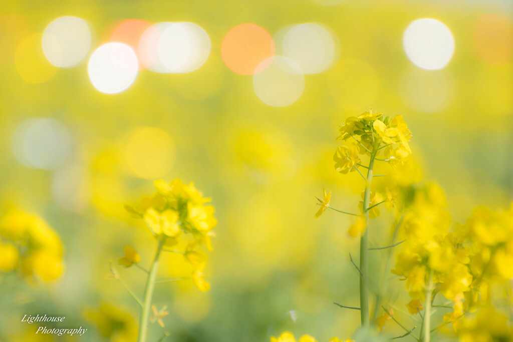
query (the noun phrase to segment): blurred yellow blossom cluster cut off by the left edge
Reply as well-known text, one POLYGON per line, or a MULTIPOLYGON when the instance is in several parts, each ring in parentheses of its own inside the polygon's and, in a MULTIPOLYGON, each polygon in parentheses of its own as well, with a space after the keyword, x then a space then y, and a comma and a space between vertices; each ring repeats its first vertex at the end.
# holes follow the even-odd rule
POLYGON ((60 277, 64 271, 60 237, 40 216, 10 210, 0 220, 0 271, 17 272, 29 283, 60 277))

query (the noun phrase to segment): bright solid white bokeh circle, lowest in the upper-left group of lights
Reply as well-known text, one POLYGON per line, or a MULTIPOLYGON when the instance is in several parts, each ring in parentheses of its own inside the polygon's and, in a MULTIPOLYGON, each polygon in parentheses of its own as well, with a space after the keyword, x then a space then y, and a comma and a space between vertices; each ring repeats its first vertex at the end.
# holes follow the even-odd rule
POLYGON ((106 94, 120 93, 135 81, 139 62, 126 44, 107 43, 89 59, 88 73, 94 88, 106 94))

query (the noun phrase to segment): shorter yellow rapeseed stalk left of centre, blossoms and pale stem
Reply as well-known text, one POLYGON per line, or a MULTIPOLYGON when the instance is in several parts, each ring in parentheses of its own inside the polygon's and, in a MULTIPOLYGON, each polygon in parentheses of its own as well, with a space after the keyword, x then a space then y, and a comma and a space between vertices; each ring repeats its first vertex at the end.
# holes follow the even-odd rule
POLYGON ((164 180, 157 180, 155 187, 157 191, 153 195, 142 197, 135 206, 125 206, 135 217, 144 220, 155 237, 156 250, 150 267, 145 269, 139 265, 140 255, 128 245, 125 246, 125 255, 119 259, 119 264, 123 267, 136 266, 147 274, 143 299, 141 300, 125 284, 112 265, 109 276, 117 279, 141 307, 138 342, 147 341, 149 323, 156 321, 164 328, 162 317, 168 314, 166 306, 157 309, 152 305, 153 292, 157 284, 192 279, 200 291, 206 292, 210 289, 210 284, 203 274, 207 254, 200 249, 205 245, 208 251, 212 250, 210 238, 214 235, 212 229, 216 226, 217 220, 213 216, 214 208, 205 205, 210 202, 210 198, 203 197, 192 183, 185 185, 179 179, 169 184, 164 180), (157 279, 159 261, 163 252, 182 254, 185 261, 192 267, 191 276, 157 279), (153 313, 152 317, 150 317, 151 313, 153 313))

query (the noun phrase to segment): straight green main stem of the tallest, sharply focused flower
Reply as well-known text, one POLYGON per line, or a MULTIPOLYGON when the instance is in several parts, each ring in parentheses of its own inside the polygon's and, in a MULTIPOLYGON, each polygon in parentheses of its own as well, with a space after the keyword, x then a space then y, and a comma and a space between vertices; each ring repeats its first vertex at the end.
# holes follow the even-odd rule
MULTIPOLYGON (((369 219, 369 200, 370 200, 370 183, 372 182, 372 170, 374 168, 374 158, 376 158, 376 147, 373 148, 370 154, 369 168, 367 170, 367 182, 365 184, 365 192, 363 195, 363 213, 365 215, 365 225, 369 219)), ((360 317, 362 326, 369 326, 369 278, 367 267, 367 254, 368 254, 368 229, 360 237, 360 317)))

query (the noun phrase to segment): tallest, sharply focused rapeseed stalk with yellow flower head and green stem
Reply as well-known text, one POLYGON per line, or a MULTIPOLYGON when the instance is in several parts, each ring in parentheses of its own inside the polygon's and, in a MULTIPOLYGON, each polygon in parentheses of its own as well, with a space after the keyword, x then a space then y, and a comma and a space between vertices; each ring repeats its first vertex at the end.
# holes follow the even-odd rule
MULTIPOLYGON (((349 228, 349 235, 352 237, 360 236, 360 266, 357 267, 360 274, 360 307, 351 308, 360 310, 361 324, 363 327, 369 326, 369 277, 368 277, 368 222, 369 218, 376 218, 380 215, 379 206, 383 203, 392 205, 392 198, 387 199, 377 191, 372 190, 372 179, 374 175, 374 163, 376 161, 388 162, 392 168, 402 164, 409 157, 411 150, 408 140, 411 138, 411 132, 404 123, 403 117, 398 115, 394 118, 383 115, 383 113, 373 113, 372 108, 358 117, 349 117, 340 127, 340 135, 337 140, 351 140, 350 145, 343 145, 337 149, 333 156, 335 169, 343 174, 348 172, 358 172, 365 180, 365 189, 362 193, 360 202, 360 213, 350 212, 331 208, 329 201, 331 193, 324 191, 324 199, 318 198, 321 209, 315 215, 319 217, 326 209, 357 216, 356 222, 349 228), (384 158, 378 156, 383 152, 384 158), (368 164, 363 165, 360 155, 369 157, 368 164), (367 175, 361 169, 367 169, 367 175)), ((393 246, 389 246, 393 247, 393 246)), ((385 247, 387 248, 387 247, 385 247)), ((352 261, 353 265, 356 264, 352 261)), ((343 305, 339 305, 345 307, 343 305)), ((346 307, 348 308, 348 307, 346 307)))

